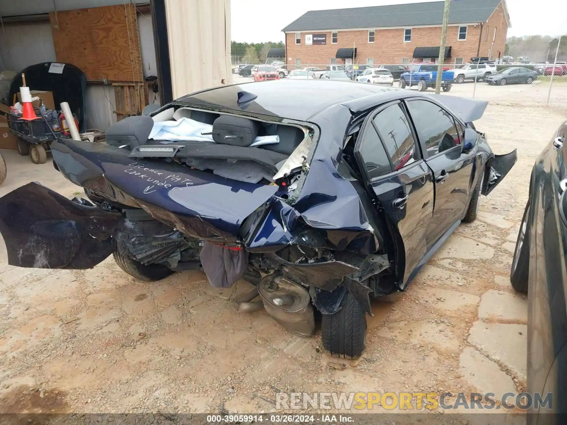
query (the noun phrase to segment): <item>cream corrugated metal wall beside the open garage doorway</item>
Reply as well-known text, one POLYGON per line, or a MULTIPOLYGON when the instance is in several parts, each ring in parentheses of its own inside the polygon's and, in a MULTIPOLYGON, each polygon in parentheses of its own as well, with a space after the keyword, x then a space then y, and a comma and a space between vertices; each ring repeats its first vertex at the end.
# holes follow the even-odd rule
POLYGON ((232 83, 230 0, 166 0, 174 98, 232 83))

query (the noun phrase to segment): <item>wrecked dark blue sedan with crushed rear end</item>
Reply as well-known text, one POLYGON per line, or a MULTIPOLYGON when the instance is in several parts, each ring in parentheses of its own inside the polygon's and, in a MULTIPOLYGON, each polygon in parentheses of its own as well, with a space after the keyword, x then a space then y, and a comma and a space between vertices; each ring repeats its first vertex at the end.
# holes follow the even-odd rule
POLYGON ((0 199, 9 263, 88 269, 113 254, 144 281, 202 269, 291 332, 356 357, 370 297, 404 291, 517 156, 473 121, 486 102, 373 84, 283 80, 196 92, 59 139, 71 201, 30 183, 0 199), (258 298, 255 301, 255 298, 258 298))

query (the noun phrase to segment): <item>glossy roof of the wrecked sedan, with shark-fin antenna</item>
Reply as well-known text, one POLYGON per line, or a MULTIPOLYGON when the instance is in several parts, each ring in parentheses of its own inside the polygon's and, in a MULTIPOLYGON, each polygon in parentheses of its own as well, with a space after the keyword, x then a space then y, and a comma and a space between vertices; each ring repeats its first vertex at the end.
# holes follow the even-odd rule
MULTIPOLYGON (((276 80, 233 84, 196 92, 176 101, 204 109, 239 111, 250 115, 289 118, 308 121, 325 109, 366 96, 391 94, 392 89, 377 84, 333 80, 276 80), (239 92, 257 97, 240 107, 236 103, 239 92)), ((405 92, 400 90, 401 93, 405 92)))

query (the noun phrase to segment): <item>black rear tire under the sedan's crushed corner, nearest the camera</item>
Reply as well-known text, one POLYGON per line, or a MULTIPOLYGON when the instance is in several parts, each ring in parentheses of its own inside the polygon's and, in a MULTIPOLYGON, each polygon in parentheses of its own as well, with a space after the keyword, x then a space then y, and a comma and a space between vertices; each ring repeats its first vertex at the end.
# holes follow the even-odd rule
POLYGON ((340 309, 321 320, 323 347, 332 355, 359 357, 366 347, 366 313, 350 292, 346 292, 340 309))

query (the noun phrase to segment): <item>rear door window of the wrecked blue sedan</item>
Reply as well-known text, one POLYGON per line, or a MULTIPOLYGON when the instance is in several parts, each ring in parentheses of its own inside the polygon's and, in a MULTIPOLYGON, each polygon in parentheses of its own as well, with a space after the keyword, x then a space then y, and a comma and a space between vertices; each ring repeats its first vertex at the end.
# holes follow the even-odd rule
POLYGON ((373 122, 390 155, 394 171, 418 159, 408 118, 399 104, 384 109, 373 122))

